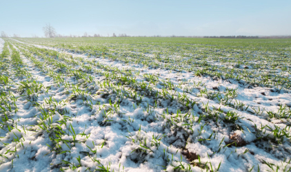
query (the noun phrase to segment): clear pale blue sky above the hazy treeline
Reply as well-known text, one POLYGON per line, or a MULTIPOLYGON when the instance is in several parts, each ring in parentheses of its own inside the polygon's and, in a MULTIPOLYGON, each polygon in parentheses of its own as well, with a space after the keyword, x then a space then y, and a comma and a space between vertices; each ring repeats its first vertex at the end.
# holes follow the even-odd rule
POLYGON ((291 0, 0 0, 0 31, 58 34, 290 35, 291 0))

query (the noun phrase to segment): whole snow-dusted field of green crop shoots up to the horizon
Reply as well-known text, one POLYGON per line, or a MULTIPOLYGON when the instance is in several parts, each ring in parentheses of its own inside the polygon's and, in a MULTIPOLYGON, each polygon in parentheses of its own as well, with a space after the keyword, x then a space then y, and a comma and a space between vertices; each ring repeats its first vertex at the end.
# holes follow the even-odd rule
POLYGON ((127 41, 0 39, 0 171, 291 170, 290 40, 127 41))

